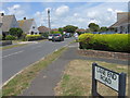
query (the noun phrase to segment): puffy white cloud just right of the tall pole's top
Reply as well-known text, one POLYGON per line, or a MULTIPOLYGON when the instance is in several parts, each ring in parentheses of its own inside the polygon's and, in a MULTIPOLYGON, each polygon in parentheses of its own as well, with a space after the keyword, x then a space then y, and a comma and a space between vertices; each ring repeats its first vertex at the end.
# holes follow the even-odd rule
POLYGON ((55 14, 58 15, 58 16, 63 16, 63 15, 67 14, 68 11, 69 11, 69 7, 62 5, 62 7, 56 9, 55 14))

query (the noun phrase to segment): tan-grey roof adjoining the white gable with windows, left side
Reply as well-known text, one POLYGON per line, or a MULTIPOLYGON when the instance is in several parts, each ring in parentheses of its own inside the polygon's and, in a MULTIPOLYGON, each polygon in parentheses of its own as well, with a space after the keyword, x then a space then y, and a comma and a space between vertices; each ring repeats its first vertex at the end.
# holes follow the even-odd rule
POLYGON ((23 29, 23 32, 29 32, 29 29, 32 25, 34 19, 21 20, 17 22, 18 22, 20 27, 23 29))

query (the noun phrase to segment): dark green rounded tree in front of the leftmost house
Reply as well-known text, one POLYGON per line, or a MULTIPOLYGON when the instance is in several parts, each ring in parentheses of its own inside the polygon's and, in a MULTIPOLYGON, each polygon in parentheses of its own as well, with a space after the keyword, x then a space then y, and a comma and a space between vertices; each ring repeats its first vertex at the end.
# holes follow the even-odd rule
POLYGON ((14 28, 13 27, 13 28, 10 28, 9 34, 20 38, 23 34, 23 30, 21 28, 14 28))

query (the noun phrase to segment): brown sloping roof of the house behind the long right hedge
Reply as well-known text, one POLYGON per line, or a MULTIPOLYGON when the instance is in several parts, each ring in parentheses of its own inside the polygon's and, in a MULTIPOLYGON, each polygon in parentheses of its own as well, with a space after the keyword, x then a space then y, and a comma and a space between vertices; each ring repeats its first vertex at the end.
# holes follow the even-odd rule
POLYGON ((117 21, 116 23, 114 23, 110 27, 118 27, 118 26, 120 26, 122 24, 126 24, 126 23, 129 23, 128 16, 123 16, 122 19, 120 19, 119 21, 117 21))

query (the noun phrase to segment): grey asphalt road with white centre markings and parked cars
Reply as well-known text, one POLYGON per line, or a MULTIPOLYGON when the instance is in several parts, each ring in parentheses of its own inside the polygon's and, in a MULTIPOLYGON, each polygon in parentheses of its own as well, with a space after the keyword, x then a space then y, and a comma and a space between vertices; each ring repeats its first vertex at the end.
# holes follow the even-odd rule
POLYGON ((60 49, 70 41, 73 38, 66 38, 65 41, 52 42, 42 41, 29 44, 27 46, 12 48, 2 51, 2 85, 13 75, 30 65, 31 63, 40 60, 47 54, 60 49))

